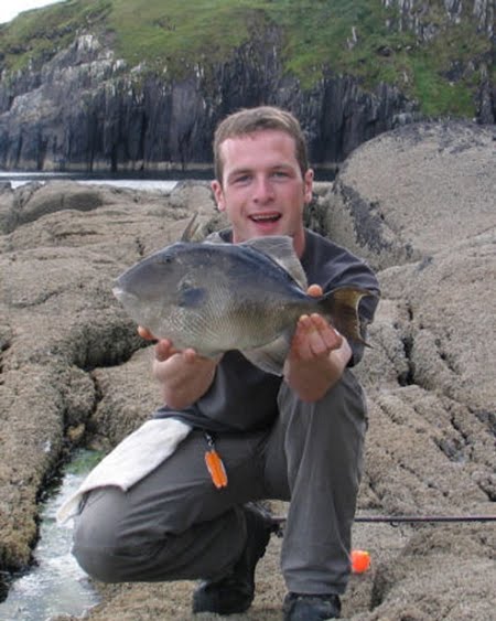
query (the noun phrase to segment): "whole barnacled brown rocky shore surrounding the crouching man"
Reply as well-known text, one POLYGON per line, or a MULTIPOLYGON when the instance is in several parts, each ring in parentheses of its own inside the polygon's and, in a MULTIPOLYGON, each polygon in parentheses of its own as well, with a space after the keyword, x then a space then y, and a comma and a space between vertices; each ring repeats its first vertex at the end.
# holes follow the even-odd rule
MULTIPOLYGON (((316 184, 309 225, 366 258, 382 287, 357 368, 369 403, 358 515, 496 515, 495 162, 494 126, 418 124, 316 184)), ((110 449, 159 405, 151 351, 111 283, 193 212, 204 233, 222 225, 205 182, 170 194, 0 186, 0 579, 29 564, 40 491, 71 447, 110 449)), ((354 547, 373 565, 353 577, 344 617, 494 619, 495 528, 357 523, 354 547)), ((279 548, 240 619, 280 619, 279 548)), ((94 621, 192 619, 191 582, 97 587, 94 621)))

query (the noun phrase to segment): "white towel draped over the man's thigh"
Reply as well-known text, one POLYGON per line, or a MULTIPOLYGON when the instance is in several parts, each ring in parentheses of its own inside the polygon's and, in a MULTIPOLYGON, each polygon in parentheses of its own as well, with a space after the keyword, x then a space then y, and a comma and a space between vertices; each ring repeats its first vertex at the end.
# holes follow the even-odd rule
POLYGON ((191 427, 174 418, 154 418, 144 422, 108 453, 57 511, 63 524, 77 515, 83 494, 114 485, 123 492, 160 465, 191 431, 191 427))

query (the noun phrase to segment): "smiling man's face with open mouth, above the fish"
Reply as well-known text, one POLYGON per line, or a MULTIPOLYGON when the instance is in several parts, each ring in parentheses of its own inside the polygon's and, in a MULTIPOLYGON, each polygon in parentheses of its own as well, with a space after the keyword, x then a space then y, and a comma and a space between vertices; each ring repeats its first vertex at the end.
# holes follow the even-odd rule
POLYGON ((233 225, 238 244, 263 235, 289 235, 296 254, 304 248, 303 208, 312 200, 313 171, 304 179, 291 136, 260 130, 220 144, 222 184, 212 188, 219 211, 233 225))

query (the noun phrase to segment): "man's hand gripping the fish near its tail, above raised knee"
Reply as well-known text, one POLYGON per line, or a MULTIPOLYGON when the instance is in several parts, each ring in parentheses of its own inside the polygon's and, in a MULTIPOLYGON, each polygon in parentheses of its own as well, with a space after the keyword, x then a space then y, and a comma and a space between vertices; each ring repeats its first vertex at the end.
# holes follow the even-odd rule
MULTIPOLYGON (((311 285, 309 296, 322 296, 319 285, 311 285)), ((339 379, 352 357, 344 339, 322 315, 302 315, 291 342, 284 379, 300 398, 319 400, 339 379)))

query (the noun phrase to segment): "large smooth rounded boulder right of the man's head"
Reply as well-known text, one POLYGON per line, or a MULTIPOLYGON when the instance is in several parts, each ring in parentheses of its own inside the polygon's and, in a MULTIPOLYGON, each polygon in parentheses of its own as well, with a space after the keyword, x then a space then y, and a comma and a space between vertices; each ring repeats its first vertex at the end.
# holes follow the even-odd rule
POLYGON ((343 165, 326 228, 376 269, 429 260, 494 226, 495 158, 490 127, 413 124, 387 132, 343 165))

